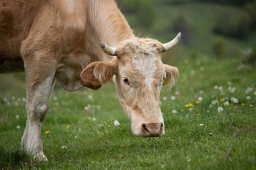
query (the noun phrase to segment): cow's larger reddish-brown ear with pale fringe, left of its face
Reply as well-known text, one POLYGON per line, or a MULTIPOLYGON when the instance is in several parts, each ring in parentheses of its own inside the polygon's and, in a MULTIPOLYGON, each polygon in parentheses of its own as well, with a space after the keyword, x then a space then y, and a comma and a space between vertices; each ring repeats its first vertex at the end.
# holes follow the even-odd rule
POLYGON ((116 74, 114 64, 108 62, 92 62, 82 70, 81 78, 83 84, 90 89, 100 89, 102 84, 112 82, 112 77, 116 74))

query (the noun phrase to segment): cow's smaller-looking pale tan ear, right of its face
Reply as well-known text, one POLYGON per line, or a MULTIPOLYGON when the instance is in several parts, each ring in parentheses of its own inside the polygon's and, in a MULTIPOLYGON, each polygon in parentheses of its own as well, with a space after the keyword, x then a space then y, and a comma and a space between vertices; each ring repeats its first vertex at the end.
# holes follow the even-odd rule
POLYGON ((169 85, 170 88, 174 85, 176 79, 178 79, 178 69, 176 67, 164 64, 166 77, 164 78, 164 85, 169 85))

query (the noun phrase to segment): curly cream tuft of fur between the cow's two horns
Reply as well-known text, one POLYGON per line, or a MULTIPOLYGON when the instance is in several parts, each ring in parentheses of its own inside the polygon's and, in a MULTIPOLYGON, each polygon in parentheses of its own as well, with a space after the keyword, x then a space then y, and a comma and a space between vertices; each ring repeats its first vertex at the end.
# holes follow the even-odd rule
POLYGON ((132 38, 124 42, 123 50, 127 53, 142 52, 146 55, 156 55, 159 52, 159 42, 149 38, 132 38))

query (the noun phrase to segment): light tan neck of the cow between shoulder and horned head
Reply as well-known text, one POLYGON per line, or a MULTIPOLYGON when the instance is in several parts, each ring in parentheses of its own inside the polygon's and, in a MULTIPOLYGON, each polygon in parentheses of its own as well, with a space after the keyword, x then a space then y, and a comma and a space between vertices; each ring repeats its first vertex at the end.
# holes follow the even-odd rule
POLYGON ((92 50, 97 50, 99 60, 109 62, 112 57, 102 52, 100 42, 105 42, 111 47, 119 47, 125 40, 134 38, 134 34, 114 1, 89 0, 87 5, 91 29, 90 46, 97 47, 92 50))

